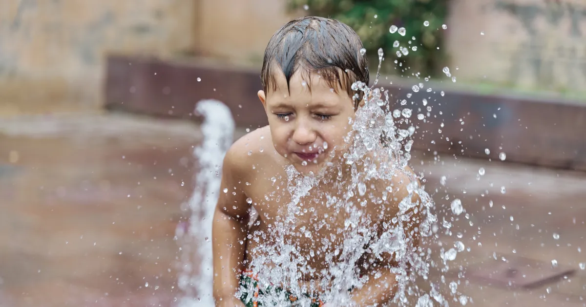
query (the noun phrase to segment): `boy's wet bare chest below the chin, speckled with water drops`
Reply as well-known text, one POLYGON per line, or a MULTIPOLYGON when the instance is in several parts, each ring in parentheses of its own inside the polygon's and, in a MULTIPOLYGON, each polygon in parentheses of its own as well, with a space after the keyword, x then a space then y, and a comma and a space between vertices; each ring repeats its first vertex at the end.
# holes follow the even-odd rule
POLYGON ((251 182, 246 192, 258 219, 250 229, 249 256, 278 244, 279 237, 297 247, 316 269, 326 258, 342 257, 345 240, 364 235, 356 233, 357 227, 375 229, 380 222, 379 204, 364 202, 359 195, 347 198, 342 191, 319 185, 294 200, 284 174, 275 174, 265 184, 251 182))

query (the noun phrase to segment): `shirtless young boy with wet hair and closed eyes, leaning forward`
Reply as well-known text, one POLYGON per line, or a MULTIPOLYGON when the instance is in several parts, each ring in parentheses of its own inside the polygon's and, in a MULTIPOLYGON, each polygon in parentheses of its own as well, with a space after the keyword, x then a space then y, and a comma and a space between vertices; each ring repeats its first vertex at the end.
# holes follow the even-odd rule
MULTIPOLYGON (((296 231, 284 234, 281 239, 292 242, 298 256, 308 259, 306 266, 311 267, 311 274, 299 278, 299 284, 324 285, 323 278, 328 276, 325 272, 332 265, 330 256, 337 255, 337 247, 343 244, 343 229, 347 228, 344 223, 349 217, 348 212, 335 211, 333 206, 326 205, 325 195, 339 193, 340 182, 347 181, 352 173, 352 168, 344 163, 343 154, 347 149, 345 136, 352 130, 350 120, 364 104, 363 93, 353 90, 352 84, 356 81, 369 83, 362 48, 362 42, 350 27, 337 20, 318 17, 292 20, 268 43, 261 72, 263 90, 258 92, 258 98, 267 112, 269 125, 234 143, 223 163, 222 191, 214 213, 212 236, 216 306, 263 305, 260 298, 246 303, 243 302, 246 299, 240 301, 235 293, 243 283, 254 282, 254 276, 247 271, 251 261, 257 257, 267 259, 264 247, 281 242, 271 236, 274 233, 271 229, 285 219, 283 212, 287 212, 286 207, 292 199, 286 189, 285 168, 288 165, 293 165, 302 175, 322 178, 321 184, 310 189, 299 201, 301 210, 295 214, 293 222, 296 231), (252 205, 258 218, 249 223, 252 205), (311 212, 307 213, 310 206, 311 212), (318 229, 316 223, 324 221, 326 225, 319 230, 305 235, 298 232, 299 229, 318 229), (314 250, 319 251, 314 253, 314 250)), ((390 161, 379 161, 385 162, 390 161)), ((392 193, 383 198, 386 211, 382 212, 386 214, 380 214, 378 203, 364 203, 363 200, 361 203, 358 194, 349 201, 362 206, 361 214, 373 227, 390 224, 399 211, 399 203, 409 195, 406 187, 412 181, 410 178, 414 178, 411 175, 410 170, 397 171, 392 180, 367 182, 368 193, 373 198, 380 199, 386 191, 392 193), (392 188, 389 190, 389 187, 392 188)), ((417 196, 413 196, 412 201, 417 202, 417 196)), ((417 232, 417 210, 411 220, 404 226, 406 232, 413 234, 417 232)), ((417 236, 413 240, 417 241, 417 236)), ((380 306, 388 302, 396 285, 395 275, 389 270, 394 264, 393 258, 387 255, 380 260, 369 256, 363 255, 369 261, 363 261, 367 264, 360 267, 360 274, 376 274, 377 277, 370 278, 361 288, 350 290, 350 298, 358 306, 380 306)), ((271 263, 270 256, 268 259, 267 267, 278 267, 271 263)), ((277 291, 284 294, 289 293, 289 287, 292 285, 285 281, 275 285, 277 291)), ((323 287, 312 289, 319 291, 323 287)), ((284 299, 294 305, 292 302, 297 298, 284 295, 284 299)), ((328 302, 316 297, 311 306, 324 306, 323 303, 328 306, 328 302)))

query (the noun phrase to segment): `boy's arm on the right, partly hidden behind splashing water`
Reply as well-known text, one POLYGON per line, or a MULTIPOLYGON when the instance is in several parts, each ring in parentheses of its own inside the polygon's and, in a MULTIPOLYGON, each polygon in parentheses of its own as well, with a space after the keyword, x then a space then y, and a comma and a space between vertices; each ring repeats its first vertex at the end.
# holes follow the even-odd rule
MULTIPOLYGON (((397 188, 394 189, 396 192, 391 198, 390 205, 398 208, 398 203, 409 196, 407 185, 410 182, 411 180, 406 174, 400 174, 394 178, 393 185, 394 187, 398 187, 398 191, 397 188)), ((418 182, 418 185, 420 185, 420 182, 418 182)), ((420 243, 417 227, 421 223, 421 203, 419 196, 415 192, 411 196, 411 202, 417 203, 417 205, 408 209, 405 213, 406 215, 410 215, 411 218, 403 222, 403 227, 405 236, 413 240, 413 247, 417 248, 420 243), (417 213, 415 213, 415 208, 418 208, 417 213)), ((388 216, 386 222, 391 223, 393 217, 388 216)), ((352 292, 352 300, 356 302, 357 306, 381 305, 389 302, 393 298, 397 281, 395 274, 390 272, 390 267, 396 265, 396 262, 390 254, 383 253, 382 257, 383 260, 374 261, 374 264, 370 267, 370 271, 367 273, 369 274, 369 281, 362 288, 352 292), (374 277, 377 273, 380 274, 380 277, 375 279, 374 277)))

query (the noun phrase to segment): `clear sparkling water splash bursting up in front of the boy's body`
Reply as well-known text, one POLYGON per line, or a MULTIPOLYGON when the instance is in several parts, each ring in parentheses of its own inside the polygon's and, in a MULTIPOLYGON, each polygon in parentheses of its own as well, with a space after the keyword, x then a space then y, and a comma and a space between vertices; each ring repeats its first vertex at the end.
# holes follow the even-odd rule
MULTIPOLYGON (((391 33, 393 30, 390 30, 391 33)), ((382 50, 379 50, 379 60, 382 58, 382 50)), ((375 85, 379 73, 377 71, 375 85)), ((324 175, 328 172, 302 175, 292 165, 286 168, 286 190, 291 195, 291 201, 283 206, 282 215, 275 219, 271 225, 273 227, 269 226, 266 232, 257 230, 248 234, 248 239, 256 242, 261 237, 275 238, 272 240, 274 244, 254 247, 252 254, 261 256, 251 258, 247 263, 248 270, 258 278, 261 289, 270 285, 286 285, 287 291, 297 298, 296 303, 299 306, 310 306, 312 299, 306 295, 308 293, 318 293, 323 302, 334 306, 353 306, 355 303, 351 301, 348 289, 362 288, 370 278, 380 277, 379 273, 361 276, 360 267, 365 265, 363 256, 370 254, 379 260, 393 257, 393 267, 386 269, 396 278, 391 301, 400 306, 432 306, 434 301, 441 306, 449 306, 448 299, 438 290, 440 281, 429 280, 428 274, 430 267, 447 271, 449 261, 454 261, 458 252, 464 250, 464 244, 456 242, 455 248, 448 250, 442 247, 438 261, 432 260, 431 249, 424 248, 423 244, 418 247, 413 244, 414 234, 418 234, 421 240, 437 241, 438 220, 433 212, 435 205, 420 184, 423 177, 407 171, 411 158, 409 151, 413 144, 410 137, 415 133, 415 127, 410 120, 411 109, 391 111, 389 94, 384 88, 369 88, 362 82, 356 82, 352 89, 362 90, 366 99, 351 122, 352 131, 345 138, 346 149, 342 162, 329 163, 332 177, 324 175), (394 119, 400 115, 404 115, 404 118, 394 119), (396 126, 396 122, 400 126, 396 126), (404 126, 407 126, 406 129, 404 126), (345 169, 349 170, 349 178, 342 176, 345 169), (387 185, 383 191, 376 191, 372 185, 366 184, 373 181, 391 182, 396 175, 405 175, 410 181, 407 185, 408 195, 399 199, 398 210, 385 206, 388 203, 387 198, 394 196, 392 185, 387 185), (319 190, 322 185, 333 181, 336 182, 334 187, 337 191, 319 190), (321 195, 315 199, 306 199, 310 191, 313 191, 312 195, 315 191, 321 195), (376 225, 373 220, 377 217, 366 214, 368 203, 380 206, 381 216, 385 212, 393 212, 392 222, 376 225), (336 216, 319 216, 314 206, 333 209, 336 216), (308 207, 311 207, 309 211, 308 207), (412 219, 416 214, 419 215, 418 220, 412 219), (343 223, 334 222, 331 225, 329 222, 336 218, 343 218, 343 223), (300 219, 309 219, 311 222, 302 223, 304 226, 298 228, 300 219), (417 226, 415 230, 406 232, 407 226, 413 224, 417 226), (333 229, 336 235, 317 239, 312 232, 319 232, 323 227, 337 227, 333 229), (310 238, 312 243, 310 246, 302 246, 299 239, 291 237, 310 238), (312 258, 316 257, 325 261, 327 269, 318 271, 312 266, 312 258), (316 275, 319 278, 313 280, 313 283, 299 282, 304 276, 316 275), (415 284, 416 280, 421 279, 430 284, 431 291, 420 289, 415 284)), ((452 203, 452 210, 456 215, 465 212, 459 199, 452 203)), ((442 226, 449 232, 449 222, 444 220, 442 226)), ((444 276, 441 282, 449 284, 444 276)), ((237 296, 248 294, 247 299, 252 299, 254 287, 256 286, 252 283, 248 286, 241 285, 237 296)), ((455 302, 468 302, 467 296, 456 295, 456 291, 452 291, 451 295, 455 302)), ((260 298, 268 306, 285 306, 282 293, 278 291, 265 291, 260 294, 260 298)))

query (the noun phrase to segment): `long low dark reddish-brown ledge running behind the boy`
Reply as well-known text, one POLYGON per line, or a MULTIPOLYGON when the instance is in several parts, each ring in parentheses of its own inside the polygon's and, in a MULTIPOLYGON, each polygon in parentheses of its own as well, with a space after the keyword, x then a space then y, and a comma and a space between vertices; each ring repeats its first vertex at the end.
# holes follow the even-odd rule
MULTIPOLYGON (((120 56, 108 58, 107 63, 108 109, 195 119, 195 103, 216 98, 230 107, 237 125, 267 124, 256 95, 261 89, 258 71, 120 56)), ((504 152, 506 161, 586 171, 586 101, 481 95, 448 88, 442 96, 438 84, 431 92, 413 93, 413 84, 394 83, 385 86, 392 101, 413 101, 408 106, 419 126, 415 149, 493 159, 504 152), (413 96, 407 98, 408 93, 413 96), (418 113, 427 113, 424 98, 432 108, 425 122, 417 119, 418 113), (424 112, 417 112, 418 108, 424 112)))

